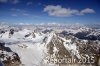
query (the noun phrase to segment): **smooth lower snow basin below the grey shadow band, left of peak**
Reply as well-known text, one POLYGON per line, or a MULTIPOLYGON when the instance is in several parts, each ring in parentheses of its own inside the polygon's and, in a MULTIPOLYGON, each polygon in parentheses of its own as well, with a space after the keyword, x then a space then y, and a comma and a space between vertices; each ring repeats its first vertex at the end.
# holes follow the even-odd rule
POLYGON ((39 66, 44 58, 44 48, 38 43, 21 43, 6 46, 10 47, 20 56, 20 60, 25 66, 39 66))

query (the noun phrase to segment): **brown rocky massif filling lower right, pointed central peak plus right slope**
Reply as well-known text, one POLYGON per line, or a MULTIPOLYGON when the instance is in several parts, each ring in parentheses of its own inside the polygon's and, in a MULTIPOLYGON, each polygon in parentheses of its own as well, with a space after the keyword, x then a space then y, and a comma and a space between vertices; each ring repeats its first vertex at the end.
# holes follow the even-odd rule
MULTIPOLYGON (((47 63, 55 63, 59 66, 99 66, 100 63, 100 45, 96 41, 80 40, 74 36, 68 35, 64 37, 65 41, 58 35, 54 34, 47 44, 47 63), (70 47, 75 46, 78 51, 69 50, 64 43, 70 47)), ((46 38, 47 40, 47 38, 46 38)))

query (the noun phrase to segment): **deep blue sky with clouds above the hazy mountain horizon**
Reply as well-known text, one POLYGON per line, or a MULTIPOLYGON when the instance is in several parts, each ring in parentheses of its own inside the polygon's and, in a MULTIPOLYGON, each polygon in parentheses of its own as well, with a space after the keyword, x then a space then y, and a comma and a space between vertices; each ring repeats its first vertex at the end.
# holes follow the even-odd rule
POLYGON ((100 0, 0 0, 0 22, 100 24, 100 0))

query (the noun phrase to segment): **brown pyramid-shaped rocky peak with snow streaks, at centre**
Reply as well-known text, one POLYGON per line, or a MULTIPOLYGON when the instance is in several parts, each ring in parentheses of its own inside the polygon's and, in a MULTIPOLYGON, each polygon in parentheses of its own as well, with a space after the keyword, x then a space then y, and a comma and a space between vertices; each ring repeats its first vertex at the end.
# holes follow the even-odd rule
POLYGON ((47 63, 54 63, 57 65, 65 65, 65 61, 61 61, 64 58, 71 58, 70 52, 65 48, 63 40, 60 39, 56 34, 51 38, 51 41, 47 44, 48 54, 46 56, 47 63))

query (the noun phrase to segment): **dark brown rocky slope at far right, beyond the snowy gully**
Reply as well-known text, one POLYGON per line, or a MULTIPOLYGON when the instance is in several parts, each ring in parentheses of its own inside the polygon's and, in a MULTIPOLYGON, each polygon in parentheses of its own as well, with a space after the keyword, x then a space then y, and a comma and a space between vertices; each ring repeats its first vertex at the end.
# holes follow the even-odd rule
POLYGON ((79 47, 80 55, 84 55, 86 59, 90 58, 86 60, 87 64, 88 64, 88 61, 90 61, 90 64, 92 64, 93 66, 99 66, 100 46, 96 41, 88 40, 87 42, 82 42, 81 44, 78 44, 78 47, 79 47))

